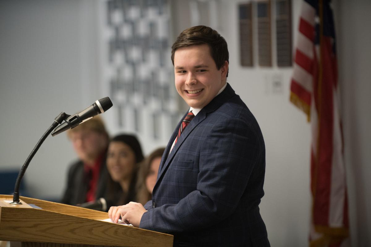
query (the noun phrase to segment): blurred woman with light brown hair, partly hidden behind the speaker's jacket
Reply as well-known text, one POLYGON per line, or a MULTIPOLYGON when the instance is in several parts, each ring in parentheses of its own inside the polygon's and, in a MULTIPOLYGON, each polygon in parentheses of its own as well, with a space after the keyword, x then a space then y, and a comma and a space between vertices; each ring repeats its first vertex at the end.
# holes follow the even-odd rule
MULTIPOLYGON (((158 168, 165 148, 157 148, 141 163, 138 171, 137 202, 147 203, 152 199, 152 190, 157 181, 158 168)), ((120 204, 121 205, 121 204, 120 204)))

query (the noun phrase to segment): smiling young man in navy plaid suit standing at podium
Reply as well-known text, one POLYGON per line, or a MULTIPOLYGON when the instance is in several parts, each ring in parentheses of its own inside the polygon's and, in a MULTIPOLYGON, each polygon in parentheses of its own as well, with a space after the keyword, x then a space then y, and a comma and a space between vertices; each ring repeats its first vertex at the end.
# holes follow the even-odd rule
POLYGON ((152 200, 111 207, 109 217, 174 234, 174 246, 269 246, 259 213, 264 140, 226 82, 226 41, 210 27, 191 27, 178 36, 171 59, 190 109, 162 156, 152 200))

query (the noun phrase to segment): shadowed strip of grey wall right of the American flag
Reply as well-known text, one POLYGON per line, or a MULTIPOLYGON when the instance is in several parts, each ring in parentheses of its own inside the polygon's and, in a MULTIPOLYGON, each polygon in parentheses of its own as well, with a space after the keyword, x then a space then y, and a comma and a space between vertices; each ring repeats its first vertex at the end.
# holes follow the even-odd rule
POLYGON ((339 83, 353 246, 371 246, 371 1, 341 0, 337 13, 339 83))

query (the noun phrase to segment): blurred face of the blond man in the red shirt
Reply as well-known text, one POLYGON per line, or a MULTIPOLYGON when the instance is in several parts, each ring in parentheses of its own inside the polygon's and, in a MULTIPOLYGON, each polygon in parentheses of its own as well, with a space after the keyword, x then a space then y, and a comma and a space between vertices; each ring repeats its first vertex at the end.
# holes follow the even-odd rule
POLYGON ((70 139, 78 157, 86 163, 98 157, 107 142, 103 134, 91 130, 72 132, 70 139))

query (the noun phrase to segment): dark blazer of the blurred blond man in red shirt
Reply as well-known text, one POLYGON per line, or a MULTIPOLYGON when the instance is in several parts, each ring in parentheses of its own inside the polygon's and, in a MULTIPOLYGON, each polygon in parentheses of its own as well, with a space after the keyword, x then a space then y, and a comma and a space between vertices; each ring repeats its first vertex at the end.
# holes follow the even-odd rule
MULTIPOLYGON (((106 157, 102 158, 101 172, 96 188, 96 198, 105 197, 108 170, 106 167, 106 157)), ((68 170, 67 186, 63 194, 61 203, 76 205, 86 202, 88 193, 88 177, 84 173, 84 164, 81 160, 73 163, 68 170)))

